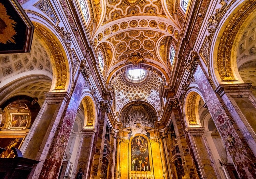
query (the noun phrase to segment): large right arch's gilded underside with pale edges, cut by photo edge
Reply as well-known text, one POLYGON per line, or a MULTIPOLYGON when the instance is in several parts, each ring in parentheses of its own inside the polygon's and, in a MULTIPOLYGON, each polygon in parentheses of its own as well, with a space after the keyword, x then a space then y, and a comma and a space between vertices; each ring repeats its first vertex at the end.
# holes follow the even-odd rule
POLYGON ((247 22, 254 18, 256 12, 256 1, 249 0, 240 4, 229 15, 224 23, 219 24, 219 29, 215 36, 211 57, 208 59, 210 73, 213 73, 214 81, 218 84, 243 83, 237 68, 238 43, 241 39, 242 31, 247 26, 247 22))

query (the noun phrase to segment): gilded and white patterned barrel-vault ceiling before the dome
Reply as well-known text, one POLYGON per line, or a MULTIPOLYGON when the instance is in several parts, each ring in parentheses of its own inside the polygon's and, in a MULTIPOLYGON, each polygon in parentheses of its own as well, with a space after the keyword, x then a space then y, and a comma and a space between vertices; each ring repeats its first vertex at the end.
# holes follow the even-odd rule
POLYGON ((143 57, 144 64, 166 72, 168 79, 169 47, 171 43, 177 45, 184 25, 184 12, 177 3, 174 0, 94 1, 97 23, 93 28, 92 24, 88 26, 95 49, 104 53, 105 78, 137 53, 143 57))

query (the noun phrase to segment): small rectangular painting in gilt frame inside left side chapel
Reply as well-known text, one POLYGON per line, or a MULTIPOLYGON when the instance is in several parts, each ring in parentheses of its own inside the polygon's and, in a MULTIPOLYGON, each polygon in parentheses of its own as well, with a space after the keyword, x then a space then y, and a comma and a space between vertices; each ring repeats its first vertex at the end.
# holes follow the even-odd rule
POLYGON ((9 128, 24 128, 26 129, 29 113, 11 113, 11 122, 9 128))

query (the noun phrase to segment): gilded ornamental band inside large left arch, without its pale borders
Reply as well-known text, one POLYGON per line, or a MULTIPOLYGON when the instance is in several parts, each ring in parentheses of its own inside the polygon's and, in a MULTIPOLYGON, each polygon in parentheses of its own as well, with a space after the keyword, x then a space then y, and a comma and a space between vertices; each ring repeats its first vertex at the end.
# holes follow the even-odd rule
POLYGON ((55 64, 55 70, 56 70, 56 87, 55 89, 58 90, 64 90, 67 84, 67 72, 68 67, 66 66, 66 61, 62 53, 62 49, 60 48, 60 45, 55 40, 52 34, 50 34, 45 28, 40 26, 37 23, 33 23, 35 27, 35 33, 40 36, 40 38, 45 42, 45 45, 47 45, 51 56, 54 59, 55 64))

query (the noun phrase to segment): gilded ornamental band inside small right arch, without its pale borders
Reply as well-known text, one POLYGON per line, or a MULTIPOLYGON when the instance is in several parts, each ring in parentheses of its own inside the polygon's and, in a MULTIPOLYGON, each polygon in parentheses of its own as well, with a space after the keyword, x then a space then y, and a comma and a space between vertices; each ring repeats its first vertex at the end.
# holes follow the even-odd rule
POLYGON ((197 92, 191 92, 187 101, 187 118, 189 125, 197 124, 196 119, 196 102, 199 94, 197 92))

